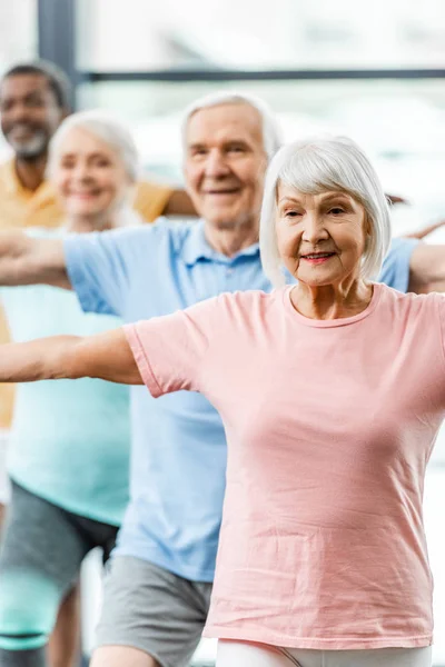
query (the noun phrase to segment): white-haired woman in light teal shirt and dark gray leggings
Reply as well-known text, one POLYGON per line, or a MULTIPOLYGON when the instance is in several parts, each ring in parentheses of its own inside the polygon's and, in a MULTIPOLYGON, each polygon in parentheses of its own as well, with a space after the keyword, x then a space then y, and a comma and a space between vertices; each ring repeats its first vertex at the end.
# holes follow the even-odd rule
MULTIPOLYGON (((38 238, 65 238, 137 225, 130 209, 137 151, 120 123, 76 113, 53 138, 49 171, 66 220, 38 238)), ((59 287, 1 289, 14 341, 60 334, 86 336, 119 326, 83 313, 59 287)), ((11 501, 0 549, 0 663, 47 665, 48 637, 59 606, 95 547, 106 560, 128 502, 129 394, 96 379, 17 387, 9 441, 11 501)))

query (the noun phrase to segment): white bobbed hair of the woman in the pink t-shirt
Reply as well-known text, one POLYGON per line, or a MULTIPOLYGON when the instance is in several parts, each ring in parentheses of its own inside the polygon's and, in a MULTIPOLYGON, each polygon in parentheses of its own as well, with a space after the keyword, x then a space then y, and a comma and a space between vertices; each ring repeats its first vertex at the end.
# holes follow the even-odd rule
POLYGON ((340 191, 365 209, 370 233, 362 258, 362 276, 375 279, 390 243, 389 208, 377 173, 364 151, 347 137, 316 137, 284 146, 266 175, 260 251, 266 276, 276 287, 285 283, 276 237, 277 190, 283 183, 305 195, 340 191))

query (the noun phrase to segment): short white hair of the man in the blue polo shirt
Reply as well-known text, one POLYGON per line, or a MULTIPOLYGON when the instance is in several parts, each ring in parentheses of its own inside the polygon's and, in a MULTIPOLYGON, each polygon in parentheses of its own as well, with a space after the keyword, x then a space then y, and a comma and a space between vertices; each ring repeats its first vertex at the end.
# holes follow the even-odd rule
POLYGON ((222 104, 248 104, 258 111, 263 125, 263 146, 270 160, 283 143, 278 121, 264 100, 244 92, 212 92, 189 104, 182 116, 182 145, 187 145, 187 128, 190 118, 201 109, 221 107, 222 104))

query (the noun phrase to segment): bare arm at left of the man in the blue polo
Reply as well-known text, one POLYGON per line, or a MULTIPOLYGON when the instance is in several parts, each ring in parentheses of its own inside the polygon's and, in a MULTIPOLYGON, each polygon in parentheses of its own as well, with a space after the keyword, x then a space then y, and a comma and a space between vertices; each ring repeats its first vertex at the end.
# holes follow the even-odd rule
POLYGON ((0 231, 0 285, 36 283, 71 289, 62 240, 0 231))

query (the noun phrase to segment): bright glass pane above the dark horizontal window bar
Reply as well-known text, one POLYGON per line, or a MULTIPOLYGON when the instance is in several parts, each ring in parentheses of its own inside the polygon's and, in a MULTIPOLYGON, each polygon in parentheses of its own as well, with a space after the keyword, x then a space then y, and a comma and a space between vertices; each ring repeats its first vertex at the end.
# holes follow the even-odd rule
POLYGON ((443 0, 78 0, 86 70, 445 66, 443 0), (123 29, 125 28, 125 29, 123 29))

